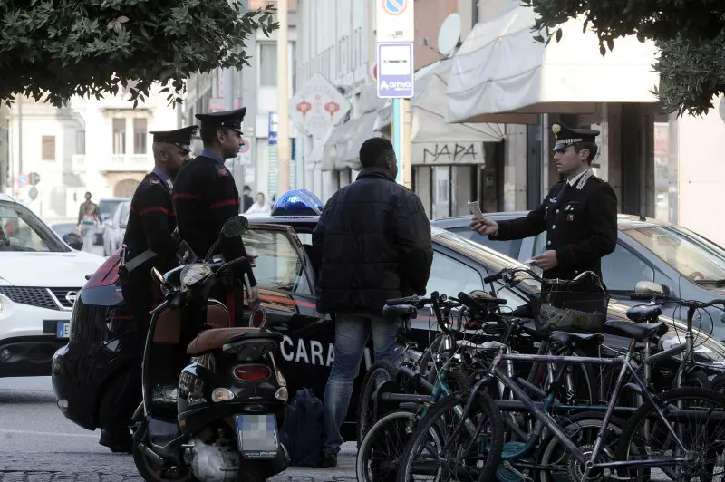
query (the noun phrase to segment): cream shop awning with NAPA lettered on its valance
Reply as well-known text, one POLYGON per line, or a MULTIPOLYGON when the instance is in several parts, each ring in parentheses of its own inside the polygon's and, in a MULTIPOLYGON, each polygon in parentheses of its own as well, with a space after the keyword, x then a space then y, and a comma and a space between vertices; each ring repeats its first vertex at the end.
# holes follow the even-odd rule
MULTIPOLYGON (((415 72, 415 95, 411 99, 411 143, 468 143, 498 142, 504 138, 504 128, 499 124, 473 123, 448 124, 446 88, 452 59, 431 63, 415 72)), ((392 105, 389 102, 375 121, 375 130, 390 129, 392 105)))

